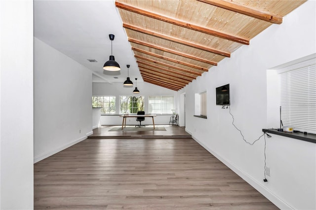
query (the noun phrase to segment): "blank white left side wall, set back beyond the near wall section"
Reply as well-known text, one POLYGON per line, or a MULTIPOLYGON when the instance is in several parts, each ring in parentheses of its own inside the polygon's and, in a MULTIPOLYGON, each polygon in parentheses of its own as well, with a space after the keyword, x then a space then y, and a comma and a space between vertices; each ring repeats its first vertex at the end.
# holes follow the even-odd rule
POLYGON ((92 134, 92 73, 34 38, 34 162, 92 134))

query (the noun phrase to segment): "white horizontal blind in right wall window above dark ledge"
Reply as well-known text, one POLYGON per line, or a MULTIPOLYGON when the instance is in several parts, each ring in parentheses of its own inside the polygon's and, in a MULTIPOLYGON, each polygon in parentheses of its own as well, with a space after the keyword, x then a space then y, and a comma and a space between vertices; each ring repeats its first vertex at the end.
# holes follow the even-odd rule
POLYGON ((281 119, 294 130, 316 133, 316 64, 280 73, 281 119))

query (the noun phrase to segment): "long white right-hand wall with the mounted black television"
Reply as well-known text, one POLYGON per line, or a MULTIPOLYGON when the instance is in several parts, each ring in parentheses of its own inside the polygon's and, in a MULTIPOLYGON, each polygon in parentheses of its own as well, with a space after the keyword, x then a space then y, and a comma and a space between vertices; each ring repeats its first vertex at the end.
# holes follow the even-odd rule
POLYGON ((316 209, 316 144, 272 135, 271 177, 263 182, 264 139, 252 146, 242 140, 229 109, 215 105, 215 88, 230 83, 231 112, 246 140, 278 125, 267 118, 267 70, 316 52, 315 8, 316 1, 307 1, 178 92, 178 99, 186 93, 186 131, 281 209, 316 209), (194 95, 204 90, 207 119, 193 116, 194 95))

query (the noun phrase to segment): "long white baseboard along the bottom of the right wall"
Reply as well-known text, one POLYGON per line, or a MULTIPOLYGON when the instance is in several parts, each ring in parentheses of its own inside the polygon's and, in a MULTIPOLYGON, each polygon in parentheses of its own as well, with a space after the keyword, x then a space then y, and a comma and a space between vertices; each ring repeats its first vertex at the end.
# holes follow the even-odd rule
MULTIPOLYGON (((186 130, 186 132, 188 132, 188 131, 186 130)), ((191 132, 188 132, 188 133, 192 136, 191 132)), ((230 168, 232 171, 234 171, 237 175, 239 175, 248 184, 250 184, 256 190, 258 190, 263 196, 265 196, 267 199, 269 199, 279 209, 294 210, 294 208, 292 208, 291 206, 286 204, 284 201, 282 201, 282 199, 277 197, 273 192, 271 192, 264 185, 262 185, 260 182, 255 180, 252 176, 246 174, 245 172, 240 170, 237 166, 235 166, 233 163, 222 158, 219 154, 217 154, 216 152, 214 152, 213 150, 208 148, 205 144, 203 144, 201 141, 197 140, 195 137, 192 136, 192 139, 197 141, 197 143, 200 144, 202 147, 204 147, 209 153, 214 155, 218 160, 220 160, 222 163, 224 163, 228 168, 230 168)))

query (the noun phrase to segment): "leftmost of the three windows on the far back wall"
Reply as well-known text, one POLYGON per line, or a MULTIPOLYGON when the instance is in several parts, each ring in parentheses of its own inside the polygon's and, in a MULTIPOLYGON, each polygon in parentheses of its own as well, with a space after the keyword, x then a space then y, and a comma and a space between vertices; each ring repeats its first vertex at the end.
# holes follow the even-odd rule
POLYGON ((101 114, 115 114, 115 96, 93 96, 92 107, 101 107, 101 114))

